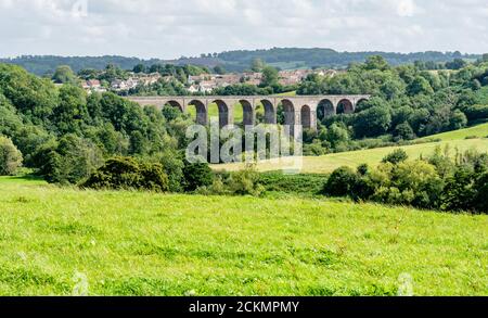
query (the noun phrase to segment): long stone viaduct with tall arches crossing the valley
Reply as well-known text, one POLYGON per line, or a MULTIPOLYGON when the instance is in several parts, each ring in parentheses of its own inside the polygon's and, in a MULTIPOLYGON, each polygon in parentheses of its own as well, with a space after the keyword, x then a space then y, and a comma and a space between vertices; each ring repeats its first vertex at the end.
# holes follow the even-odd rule
POLYGON ((129 97, 128 100, 139 103, 141 106, 154 105, 163 109, 165 105, 178 107, 187 112, 189 106, 196 109, 196 123, 208 124, 208 107, 215 103, 219 110, 220 127, 233 125, 234 107, 242 105, 244 126, 256 124, 256 109, 262 105, 265 111, 265 124, 277 124, 278 106, 281 104, 284 112, 284 124, 288 126, 301 125, 304 129, 317 129, 319 114, 322 117, 334 114, 354 113, 359 102, 369 100, 370 96, 253 96, 253 97, 129 97))

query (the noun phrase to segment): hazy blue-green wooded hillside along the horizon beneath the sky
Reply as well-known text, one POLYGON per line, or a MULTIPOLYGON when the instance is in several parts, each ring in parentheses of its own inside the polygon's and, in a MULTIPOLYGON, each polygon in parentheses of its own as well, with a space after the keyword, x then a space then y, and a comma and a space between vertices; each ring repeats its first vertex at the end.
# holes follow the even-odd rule
POLYGON ((107 64, 116 64, 125 69, 131 69, 137 64, 193 64, 214 67, 223 65, 228 71, 244 71, 249 68, 254 59, 260 59, 268 64, 282 69, 332 67, 344 68, 352 62, 363 62, 368 56, 382 55, 393 65, 408 64, 415 61, 448 62, 453 59, 476 60, 476 54, 461 54, 460 52, 418 52, 418 53, 388 53, 388 52, 337 52, 331 49, 297 49, 274 48, 255 51, 228 51, 214 54, 202 54, 200 58, 181 58, 178 60, 141 60, 124 56, 18 56, 15 59, 0 59, 0 63, 17 64, 28 72, 37 75, 52 74, 59 65, 69 65, 75 72, 82 68, 104 68, 107 64))

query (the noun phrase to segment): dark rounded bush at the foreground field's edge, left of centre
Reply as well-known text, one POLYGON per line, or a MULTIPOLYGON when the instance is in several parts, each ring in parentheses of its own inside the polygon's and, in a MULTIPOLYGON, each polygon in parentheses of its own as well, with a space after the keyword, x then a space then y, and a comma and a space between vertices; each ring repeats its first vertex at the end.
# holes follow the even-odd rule
POLYGON ((160 164, 138 164, 131 157, 114 157, 82 183, 91 189, 137 189, 165 192, 168 176, 160 164))

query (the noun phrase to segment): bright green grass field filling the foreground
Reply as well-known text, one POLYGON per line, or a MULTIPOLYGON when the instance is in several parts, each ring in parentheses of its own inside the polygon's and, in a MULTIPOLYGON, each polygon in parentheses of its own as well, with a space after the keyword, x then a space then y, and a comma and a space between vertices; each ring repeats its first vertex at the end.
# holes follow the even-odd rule
POLYGON ((488 216, 0 178, 0 295, 488 295, 488 216))

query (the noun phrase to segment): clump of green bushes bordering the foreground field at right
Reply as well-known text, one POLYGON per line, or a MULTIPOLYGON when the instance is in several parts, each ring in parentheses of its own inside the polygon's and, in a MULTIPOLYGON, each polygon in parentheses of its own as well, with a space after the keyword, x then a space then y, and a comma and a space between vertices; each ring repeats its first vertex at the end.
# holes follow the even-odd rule
POLYGON ((406 161, 400 151, 388 155, 376 169, 336 169, 324 186, 331 196, 350 196, 421 208, 488 213, 486 200, 488 155, 447 150, 428 161, 406 161))

